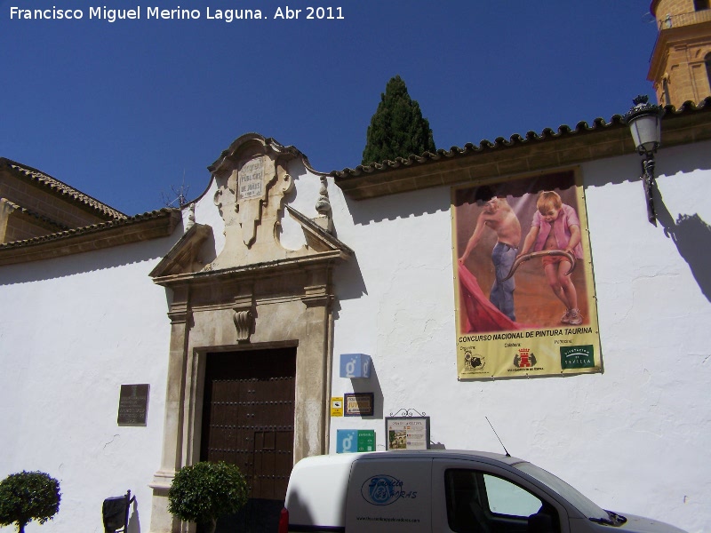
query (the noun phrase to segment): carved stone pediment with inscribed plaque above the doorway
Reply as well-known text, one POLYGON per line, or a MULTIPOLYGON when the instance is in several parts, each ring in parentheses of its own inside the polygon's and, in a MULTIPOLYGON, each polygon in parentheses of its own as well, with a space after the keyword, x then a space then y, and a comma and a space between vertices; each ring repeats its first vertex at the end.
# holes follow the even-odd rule
POLYGON ((353 256, 353 251, 330 231, 331 206, 324 177, 320 178, 321 189, 314 197, 316 218, 308 218, 287 205, 295 187, 287 163, 294 159, 309 168, 306 157, 294 147, 284 147, 256 133, 236 139, 209 167, 217 188, 212 201, 225 223, 224 248, 217 257, 212 251, 211 257, 207 244, 213 241, 212 227, 197 224, 194 215, 188 216, 188 230, 151 272, 154 280, 170 284, 194 274, 255 267, 260 270, 312 259, 353 256), (304 234, 304 245, 298 250, 280 243, 282 218, 287 212, 304 234))

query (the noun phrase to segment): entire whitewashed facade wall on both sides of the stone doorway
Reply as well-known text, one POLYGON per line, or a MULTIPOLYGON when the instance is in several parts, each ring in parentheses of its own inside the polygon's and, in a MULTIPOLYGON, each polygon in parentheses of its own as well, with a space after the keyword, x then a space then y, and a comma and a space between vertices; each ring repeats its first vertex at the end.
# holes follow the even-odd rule
MULTIPOLYGON (((662 149, 659 189, 674 219, 711 221, 711 143, 662 149)), ((289 201, 315 217, 319 178, 290 169, 289 201)), ((337 237, 356 252, 334 278, 332 396, 374 392, 376 417, 332 418, 338 429, 374 429, 412 408, 431 417, 447 449, 499 451, 488 417, 516 457, 558 474, 604 508, 699 532, 711 523, 711 305, 684 254, 646 219, 639 158, 581 166, 595 267, 603 374, 458 381, 451 189, 356 202, 329 179, 337 237), (370 379, 339 378, 339 357, 370 354, 370 379)), ((213 185, 196 221, 224 245, 213 185)), ((283 242, 303 242, 284 219, 283 242)), ((180 237, 0 268, 0 477, 43 470, 57 477, 60 513, 28 533, 101 531, 104 497, 131 489, 130 533, 150 523, 148 483, 160 465, 170 323, 150 270, 180 237), (116 426, 119 385, 149 383, 146 427, 116 426)), ((705 248, 706 246, 706 248, 705 248)), ((706 287, 708 294, 708 287, 706 287)), ((0 529, 2 533, 11 528, 0 529)))

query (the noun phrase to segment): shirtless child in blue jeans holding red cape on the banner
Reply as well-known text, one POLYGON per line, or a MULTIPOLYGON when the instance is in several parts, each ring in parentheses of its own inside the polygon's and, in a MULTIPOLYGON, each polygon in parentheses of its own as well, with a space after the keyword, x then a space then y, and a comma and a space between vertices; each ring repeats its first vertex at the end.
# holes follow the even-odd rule
POLYGON ((469 238, 459 263, 463 265, 474 251, 482 238, 484 228, 488 227, 496 232, 497 243, 491 251, 491 262, 494 265, 496 279, 491 286, 489 300, 501 313, 515 322, 514 278, 509 278, 506 282, 499 282, 499 280, 507 276, 516 259, 518 243, 521 242, 521 224, 514 210, 508 205, 506 197, 494 195, 490 187, 479 187, 475 199, 477 205, 483 205, 483 211, 476 219, 474 233, 469 238))

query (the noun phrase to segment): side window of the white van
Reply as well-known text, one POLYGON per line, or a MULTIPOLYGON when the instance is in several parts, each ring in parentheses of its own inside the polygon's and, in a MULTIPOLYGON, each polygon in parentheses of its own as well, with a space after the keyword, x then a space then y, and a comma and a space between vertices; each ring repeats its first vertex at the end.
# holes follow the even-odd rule
POLYGON ((552 505, 490 473, 451 468, 444 472, 444 487, 447 521, 457 533, 560 531, 552 505))

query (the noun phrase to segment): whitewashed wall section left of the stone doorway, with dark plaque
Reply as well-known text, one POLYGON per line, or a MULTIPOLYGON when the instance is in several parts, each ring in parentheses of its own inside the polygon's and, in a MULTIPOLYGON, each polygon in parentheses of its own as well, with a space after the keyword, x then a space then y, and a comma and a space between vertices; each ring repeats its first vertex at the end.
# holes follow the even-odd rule
POLYGON ((54 520, 28 533, 102 533, 103 499, 128 489, 129 533, 148 531, 170 338, 165 290, 148 273, 171 245, 0 268, 0 479, 40 470, 62 494, 54 520), (118 426, 120 386, 140 383, 147 426, 118 426))

